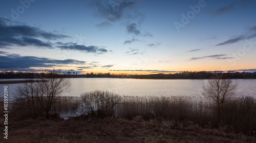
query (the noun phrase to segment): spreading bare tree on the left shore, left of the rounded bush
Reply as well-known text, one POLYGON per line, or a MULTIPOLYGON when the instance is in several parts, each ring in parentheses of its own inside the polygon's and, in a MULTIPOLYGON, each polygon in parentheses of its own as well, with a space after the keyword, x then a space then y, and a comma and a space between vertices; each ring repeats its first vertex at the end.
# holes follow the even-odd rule
POLYGON ((56 78, 53 74, 36 79, 37 82, 33 79, 29 81, 17 87, 16 100, 26 99, 32 117, 37 117, 44 110, 46 118, 50 118, 49 111, 56 97, 70 88, 69 79, 56 78))

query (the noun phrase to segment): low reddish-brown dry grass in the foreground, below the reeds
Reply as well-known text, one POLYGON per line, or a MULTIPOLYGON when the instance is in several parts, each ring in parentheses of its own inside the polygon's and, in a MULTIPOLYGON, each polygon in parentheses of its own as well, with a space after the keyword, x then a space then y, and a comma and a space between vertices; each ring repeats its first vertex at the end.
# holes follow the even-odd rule
MULTIPOLYGON (((1 127, 3 126, 1 122, 1 127)), ((256 142, 255 137, 202 128, 192 122, 103 119, 11 121, 1 142, 256 142)))

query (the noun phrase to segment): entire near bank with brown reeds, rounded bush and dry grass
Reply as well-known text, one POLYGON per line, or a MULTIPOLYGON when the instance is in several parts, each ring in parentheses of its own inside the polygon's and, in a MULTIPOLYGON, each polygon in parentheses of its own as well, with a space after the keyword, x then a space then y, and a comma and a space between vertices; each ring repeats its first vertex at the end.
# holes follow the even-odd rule
MULTIPOLYGON (((3 107, 3 101, 0 104, 3 107)), ((10 104, 10 136, 20 142, 31 142, 33 134, 35 142, 57 142, 62 137, 69 142, 256 141, 256 100, 251 97, 226 100, 218 123, 214 102, 191 97, 119 96, 102 91, 58 97, 50 120, 43 118, 40 109, 42 116, 32 120, 29 106, 26 100, 10 104), (58 113, 65 112, 76 117, 61 120, 58 113)))

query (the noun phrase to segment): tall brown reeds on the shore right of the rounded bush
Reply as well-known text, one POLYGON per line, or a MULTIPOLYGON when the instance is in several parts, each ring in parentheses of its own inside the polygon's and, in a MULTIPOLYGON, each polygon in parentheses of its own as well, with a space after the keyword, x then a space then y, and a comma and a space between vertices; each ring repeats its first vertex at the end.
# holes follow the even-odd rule
MULTIPOLYGON (((123 97, 118 104, 121 118, 142 116, 145 120, 192 121, 203 127, 216 128, 218 112, 214 102, 193 100, 190 97, 123 97)), ((240 97, 227 100, 218 125, 226 132, 256 136, 256 100, 240 97)))

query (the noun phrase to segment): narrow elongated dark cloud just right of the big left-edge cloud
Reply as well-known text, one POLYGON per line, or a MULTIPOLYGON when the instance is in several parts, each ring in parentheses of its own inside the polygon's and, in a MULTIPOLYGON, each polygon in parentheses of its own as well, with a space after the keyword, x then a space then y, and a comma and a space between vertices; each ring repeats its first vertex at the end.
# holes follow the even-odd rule
POLYGON ((85 46, 85 45, 78 45, 77 43, 56 43, 58 48, 62 50, 78 50, 82 52, 92 52, 92 53, 104 53, 108 52, 108 50, 104 48, 99 48, 98 46, 85 46))

